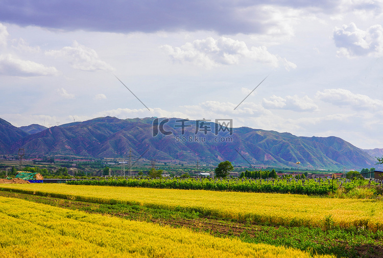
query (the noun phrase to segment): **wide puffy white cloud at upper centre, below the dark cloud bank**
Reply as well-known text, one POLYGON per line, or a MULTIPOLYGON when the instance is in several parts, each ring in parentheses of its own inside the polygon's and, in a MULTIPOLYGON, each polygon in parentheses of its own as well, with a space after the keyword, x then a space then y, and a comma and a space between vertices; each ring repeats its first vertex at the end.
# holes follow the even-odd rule
POLYGON ((198 39, 193 42, 187 42, 180 48, 162 45, 161 49, 175 61, 191 62, 208 68, 238 64, 242 59, 254 60, 271 67, 283 65, 286 69, 296 68, 294 63, 278 55, 271 54, 266 46, 252 46, 249 49, 244 41, 226 37, 198 39))

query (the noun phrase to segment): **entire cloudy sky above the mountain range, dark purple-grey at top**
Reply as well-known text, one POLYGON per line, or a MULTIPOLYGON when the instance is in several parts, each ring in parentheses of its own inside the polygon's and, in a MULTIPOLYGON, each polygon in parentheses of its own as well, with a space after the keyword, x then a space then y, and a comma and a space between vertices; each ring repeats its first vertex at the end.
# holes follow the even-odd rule
POLYGON ((15 126, 233 119, 383 148, 383 1, 0 6, 0 118, 15 126))

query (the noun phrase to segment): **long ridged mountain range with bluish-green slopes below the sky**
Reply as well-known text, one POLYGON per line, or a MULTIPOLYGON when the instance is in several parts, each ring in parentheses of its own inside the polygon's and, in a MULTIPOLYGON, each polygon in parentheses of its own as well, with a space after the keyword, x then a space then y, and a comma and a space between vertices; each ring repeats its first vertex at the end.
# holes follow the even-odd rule
MULTIPOLYGON (((197 161, 216 164, 230 160, 244 166, 311 169, 360 169, 375 166, 372 150, 362 150, 339 137, 300 137, 232 128, 208 121, 176 118, 120 120, 110 116, 46 128, 17 128, 0 119, 0 154, 26 157, 135 157, 157 161, 197 161)), ((381 156, 381 155, 379 155, 381 156)))

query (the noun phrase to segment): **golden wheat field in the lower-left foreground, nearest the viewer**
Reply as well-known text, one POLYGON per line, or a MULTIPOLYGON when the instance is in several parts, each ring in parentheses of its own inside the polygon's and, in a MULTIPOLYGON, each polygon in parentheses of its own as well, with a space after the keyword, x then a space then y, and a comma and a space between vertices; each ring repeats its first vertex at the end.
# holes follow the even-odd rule
POLYGON ((312 257, 295 249, 4 197, 0 223, 1 257, 312 257))

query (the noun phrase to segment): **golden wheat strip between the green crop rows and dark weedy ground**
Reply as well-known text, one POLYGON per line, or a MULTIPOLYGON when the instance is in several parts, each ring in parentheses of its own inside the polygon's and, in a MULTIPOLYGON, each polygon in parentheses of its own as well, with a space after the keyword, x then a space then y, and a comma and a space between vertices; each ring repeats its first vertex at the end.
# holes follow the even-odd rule
POLYGON ((194 208, 207 215, 279 225, 320 227, 329 218, 342 227, 368 227, 371 230, 383 227, 383 202, 377 200, 66 184, 14 184, 1 187, 68 199, 194 208))

